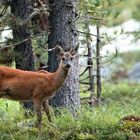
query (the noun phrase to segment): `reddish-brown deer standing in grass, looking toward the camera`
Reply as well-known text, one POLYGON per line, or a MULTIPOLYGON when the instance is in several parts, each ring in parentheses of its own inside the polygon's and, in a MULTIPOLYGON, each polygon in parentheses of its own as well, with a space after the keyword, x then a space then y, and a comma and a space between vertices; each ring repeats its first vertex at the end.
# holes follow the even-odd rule
POLYGON ((42 107, 48 121, 52 122, 49 99, 65 82, 78 50, 77 46, 69 51, 64 51, 58 45, 56 48, 59 50, 60 64, 55 72, 25 71, 0 66, 0 98, 22 102, 33 101, 39 130, 41 130, 42 107))

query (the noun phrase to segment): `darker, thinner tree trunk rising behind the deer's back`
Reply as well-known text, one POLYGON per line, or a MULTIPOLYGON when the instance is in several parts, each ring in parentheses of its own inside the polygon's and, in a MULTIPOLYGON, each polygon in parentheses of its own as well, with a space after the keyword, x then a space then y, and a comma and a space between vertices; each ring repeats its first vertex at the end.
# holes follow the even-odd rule
MULTIPOLYGON (((15 17, 23 19, 26 11, 28 11, 28 6, 27 0, 12 0, 11 12, 15 17)), ((16 42, 30 38, 30 33, 26 25, 14 27, 13 38, 16 42)), ((31 39, 15 46, 15 63, 17 69, 34 70, 31 39)), ((23 105, 27 109, 32 109, 33 107, 31 102, 25 102, 23 105)))

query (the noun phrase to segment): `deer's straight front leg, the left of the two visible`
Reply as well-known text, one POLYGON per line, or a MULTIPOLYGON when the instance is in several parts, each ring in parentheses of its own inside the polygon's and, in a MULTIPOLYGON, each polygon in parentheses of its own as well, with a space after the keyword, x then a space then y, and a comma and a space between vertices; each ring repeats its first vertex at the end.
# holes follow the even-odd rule
POLYGON ((37 126, 41 130, 42 114, 41 114, 41 100, 34 98, 34 109, 37 114, 37 126))

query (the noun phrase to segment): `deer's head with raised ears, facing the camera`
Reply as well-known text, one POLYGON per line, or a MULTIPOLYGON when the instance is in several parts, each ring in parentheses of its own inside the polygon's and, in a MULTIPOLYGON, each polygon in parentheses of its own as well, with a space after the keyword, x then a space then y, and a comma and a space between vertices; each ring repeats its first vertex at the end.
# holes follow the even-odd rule
POLYGON ((60 46, 57 46, 57 48, 59 49, 61 66, 63 69, 68 70, 72 66, 72 60, 78 51, 79 45, 77 45, 75 48, 71 48, 68 52, 64 52, 60 46))

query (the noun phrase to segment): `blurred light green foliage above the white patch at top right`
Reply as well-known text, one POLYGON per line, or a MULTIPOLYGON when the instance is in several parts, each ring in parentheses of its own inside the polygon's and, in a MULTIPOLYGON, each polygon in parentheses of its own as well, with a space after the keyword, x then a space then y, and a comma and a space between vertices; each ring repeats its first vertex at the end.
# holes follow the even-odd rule
MULTIPOLYGON (((81 16, 85 19, 86 15, 90 25, 100 22, 106 26, 119 25, 131 18, 140 20, 139 5, 139 0, 80 0, 78 3, 81 16)), ((80 24, 81 21, 85 20, 80 20, 80 24)))

